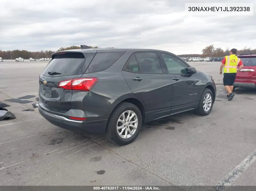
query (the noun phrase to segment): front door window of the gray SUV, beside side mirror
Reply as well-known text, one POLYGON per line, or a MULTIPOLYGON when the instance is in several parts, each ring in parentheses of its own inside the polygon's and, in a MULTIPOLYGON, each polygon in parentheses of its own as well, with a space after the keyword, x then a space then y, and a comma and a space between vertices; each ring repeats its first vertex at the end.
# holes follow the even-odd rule
POLYGON ((180 74, 182 69, 188 68, 185 63, 174 56, 164 53, 161 53, 161 55, 163 56, 168 71, 171 74, 180 74))

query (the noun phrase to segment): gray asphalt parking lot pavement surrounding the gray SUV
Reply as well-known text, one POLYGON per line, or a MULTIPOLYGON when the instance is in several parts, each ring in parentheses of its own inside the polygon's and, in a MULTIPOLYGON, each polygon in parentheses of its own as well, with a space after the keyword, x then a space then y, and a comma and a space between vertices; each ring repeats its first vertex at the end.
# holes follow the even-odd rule
POLYGON ((16 116, 0 121, 0 185, 256 186, 256 90, 237 88, 228 101, 220 62, 188 62, 217 85, 208 116, 190 111, 148 123, 121 147, 54 126, 32 103, 5 101, 38 97, 47 63, 0 63, 0 101, 16 116))

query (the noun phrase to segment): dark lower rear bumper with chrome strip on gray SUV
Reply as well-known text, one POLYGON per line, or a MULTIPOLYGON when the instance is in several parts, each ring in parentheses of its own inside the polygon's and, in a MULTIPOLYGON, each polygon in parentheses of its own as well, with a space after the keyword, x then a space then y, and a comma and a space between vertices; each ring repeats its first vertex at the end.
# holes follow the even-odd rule
POLYGON ((42 107, 38 108, 39 113, 50 123, 77 133, 104 134, 108 119, 95 121, 76 121, 64 116, 55 115, 47 112, 42 107))

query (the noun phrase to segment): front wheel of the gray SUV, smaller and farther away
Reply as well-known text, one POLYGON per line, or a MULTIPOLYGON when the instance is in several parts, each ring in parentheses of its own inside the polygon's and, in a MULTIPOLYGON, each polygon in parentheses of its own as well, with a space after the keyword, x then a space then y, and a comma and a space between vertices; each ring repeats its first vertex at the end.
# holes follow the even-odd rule
POLYGON ((209 113, 211 113, 213 102, 214 97, 212 91, 206 88, 201 95, 198 108, 196 109, 196 114, 207 116, 209 113))

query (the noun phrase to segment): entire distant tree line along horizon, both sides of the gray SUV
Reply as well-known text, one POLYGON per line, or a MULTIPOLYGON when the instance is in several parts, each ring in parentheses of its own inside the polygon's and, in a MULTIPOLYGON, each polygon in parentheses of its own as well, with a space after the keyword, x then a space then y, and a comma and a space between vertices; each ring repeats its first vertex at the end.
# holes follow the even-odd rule
MULTIPOLYGON (((90 48, 99 48, 98 46, 89 46, 90 48)), ((80 49, 80 46, 69 46, 69 47, 61 47, 57 50, 63 51, 63 50, 70 50, 70 49, 80 49)), ((114 48, 114 47, 108 47, 108 48, 114 48)), ((46 51, 36 51, 36 52, 30 52, 27 50, 8 50, 8 51, 2 51, 0 50, 0 57, 2 59, 16 59, 19 57, 22 57, 23 59, 39 59, 39 58, 51 58, 52 53, 56 51, 52 50, 46 50, 46 51)), ((230 50, 226 49, 225 51, 221 48, 214 48, 213 45, 206 46, 204 49, 202 49, 202 54, 182 54, 178 55, 180 57, 223 57, 229 55, 230 50)), ((256 53, 256 49, 251 49, 244 47, 244 49, 238 50, 237 54, 247 54, 247 53, 256 53)))

